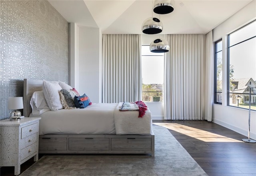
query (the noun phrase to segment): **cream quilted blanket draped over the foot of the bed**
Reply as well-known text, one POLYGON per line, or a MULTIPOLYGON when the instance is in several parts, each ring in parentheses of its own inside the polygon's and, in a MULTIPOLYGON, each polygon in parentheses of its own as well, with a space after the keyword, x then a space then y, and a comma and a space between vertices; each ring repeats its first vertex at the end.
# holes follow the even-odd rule
POLYGON ((150 135, 152 131, 151 112, 146 110, 141 118, 139 111, 119 111, 123 102, 118 103, 114 110, 114 123, 117 135, 140 134, 150 135))

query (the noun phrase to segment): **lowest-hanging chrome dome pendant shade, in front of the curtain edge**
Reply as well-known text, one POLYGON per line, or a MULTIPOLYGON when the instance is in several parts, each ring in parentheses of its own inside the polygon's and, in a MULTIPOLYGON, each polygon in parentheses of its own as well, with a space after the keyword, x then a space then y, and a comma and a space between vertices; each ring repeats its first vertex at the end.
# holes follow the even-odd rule
POLYGON ((166 53, 170 49, 168 41, 164 39, 155 39, 150 43, 150 51, 152 53, 166 53))

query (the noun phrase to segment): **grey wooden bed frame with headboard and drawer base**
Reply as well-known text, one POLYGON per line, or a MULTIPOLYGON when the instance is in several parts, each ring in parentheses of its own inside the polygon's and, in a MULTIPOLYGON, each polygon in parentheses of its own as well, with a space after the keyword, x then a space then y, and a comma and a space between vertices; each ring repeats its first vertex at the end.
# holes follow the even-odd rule
MULTIPOLYGON (((43 80, 24 79, 24 116, 32 112, 33 92, 42 90, 43 80)), ((149 154, 154 156, 151 135, 39 135, 39 153, 149 154)))

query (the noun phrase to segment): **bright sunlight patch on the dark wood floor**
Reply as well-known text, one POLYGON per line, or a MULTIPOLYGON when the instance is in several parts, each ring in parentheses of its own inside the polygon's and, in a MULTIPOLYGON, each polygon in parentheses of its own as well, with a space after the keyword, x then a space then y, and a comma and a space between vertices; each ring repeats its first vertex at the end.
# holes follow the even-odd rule
POLYGON ((230 137, 218 135, 215 133, 211 133, 211 132, 193 128, 193 127, 188 127, 186 125, 181 125, 178 123, 154 123, 154 124, 166 127, 167 129, 171 129, 178 133, 182 133, 184 135, 193 137, 195 139, 198 139, 204 142, 236 142, 236 143, 243 142, 236 139, 232 139, 230 137))

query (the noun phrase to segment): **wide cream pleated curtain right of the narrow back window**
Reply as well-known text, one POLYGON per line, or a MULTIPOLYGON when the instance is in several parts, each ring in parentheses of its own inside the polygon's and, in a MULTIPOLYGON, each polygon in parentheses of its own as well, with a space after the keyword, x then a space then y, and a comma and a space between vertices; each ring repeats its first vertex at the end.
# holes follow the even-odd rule
POLYGON ((208 52, 212 49, 210 35, 166 35, 170 51, 164 63, 165 119, 212 119, 212 53, 206 57, 206 41, 208 52))

